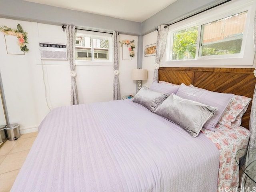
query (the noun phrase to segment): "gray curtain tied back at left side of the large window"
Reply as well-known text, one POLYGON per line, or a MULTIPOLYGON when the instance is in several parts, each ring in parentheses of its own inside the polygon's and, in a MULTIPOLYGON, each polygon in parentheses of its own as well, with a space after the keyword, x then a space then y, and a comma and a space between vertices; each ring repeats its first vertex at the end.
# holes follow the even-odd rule
POLYGON ((156 60, 154 66, 153 82, 158 81, 158 68, 160 67, 160 63, 166 48, 168 28, 164 28, 164 26, 165 25, 158 26, 158 35, 156 41, 156 60))

